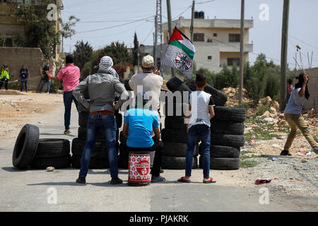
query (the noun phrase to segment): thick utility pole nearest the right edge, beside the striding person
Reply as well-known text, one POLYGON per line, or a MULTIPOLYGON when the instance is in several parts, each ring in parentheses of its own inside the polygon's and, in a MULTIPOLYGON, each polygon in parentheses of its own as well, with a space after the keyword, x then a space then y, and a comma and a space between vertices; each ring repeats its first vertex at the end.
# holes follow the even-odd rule
POLYGON ((289 0, 283 4, 283 25, 281 32, 281 93, 279 110, 283 112, 286 105, 286 73, 287 73, 287 44, 288 44, 289 0))

